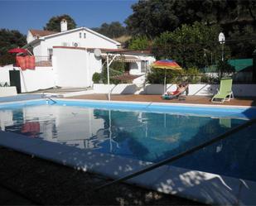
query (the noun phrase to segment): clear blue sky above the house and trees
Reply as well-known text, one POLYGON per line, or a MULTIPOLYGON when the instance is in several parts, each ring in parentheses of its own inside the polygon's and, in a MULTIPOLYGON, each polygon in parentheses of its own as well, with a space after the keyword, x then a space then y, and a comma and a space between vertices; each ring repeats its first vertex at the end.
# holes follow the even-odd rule
POLYGON ((0 0, 0 29, 43 29, 51 17, 68 14, 77 26, 99 27, 120 22, 133 13, 138 0, 0 0))

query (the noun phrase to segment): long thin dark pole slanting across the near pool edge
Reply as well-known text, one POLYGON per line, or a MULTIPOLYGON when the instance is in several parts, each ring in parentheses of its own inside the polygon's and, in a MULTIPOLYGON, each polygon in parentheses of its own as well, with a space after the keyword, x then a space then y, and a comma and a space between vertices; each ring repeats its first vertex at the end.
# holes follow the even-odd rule
POLYGON ((130 175, 127 175, 127 176, 124 176, 124 177, 121 177, 119 178, 118 180, 113 180, 112 182, 110 183, 107 183, 107 184, 103 184, 101 186, 99 186, 98 188, 94 189, 94 190, 99 190, 99 189, 103 189, 107 186, 110 186, 112 184, 116 184, 116 183, 119 183, 119 182, 122 182, 122 181, 125 181, 125 180, 129 180, 133 177, 136 177, 138 175, 142 175, 148 171, 151 171, 151 170, 154 170, 162 165, 167 165, 168 163, 171 163, 175 160, 178 160, 180 159, 181 157, 184 157, 184 156, 187 156, 187 155, 190 155, 191 153, 195 152, 195 151, 199 151, 200 149, 204 148, 205 146, 210 146, 212 144, 214 144, 215 142, 217 141, 220 141, 220 140, 223 140, 225 139, 226 137, 229 137, 230 135, 234 134, 235 132, 239 132, 240 130, 246 128, 246 127, 250 127, 252 126, 254 123, 256 123, 256 118, 254 119, 251 119, 249 120, 248 122, 245 122, 244 124, 241 124, 237 127, 234 127, 233 129, 230 129, 229 131, 227 132, 224 132, 223 134, 221 134, 220 136, 218 137, 215 137, 213 138, 212 140, 210 141, 205 141, 205 143, 202 143, 200 144, 199 146, 194 146, 192 147, 191 149, 189 150, 186 150, 186 151, 183 151, 181 152, 180 154, 176 155, 176 156, 173 156, 173 157, 170 157, 170 158, 167 158, 166 160, 162 160, 162 161, 159 161, 155 164, 152 164, 152 165, 149 165, 147 167, 145 167, 144 169, 142 170, 138 170, 138 171, 135 171, 133 174, 130 174, 130 175))

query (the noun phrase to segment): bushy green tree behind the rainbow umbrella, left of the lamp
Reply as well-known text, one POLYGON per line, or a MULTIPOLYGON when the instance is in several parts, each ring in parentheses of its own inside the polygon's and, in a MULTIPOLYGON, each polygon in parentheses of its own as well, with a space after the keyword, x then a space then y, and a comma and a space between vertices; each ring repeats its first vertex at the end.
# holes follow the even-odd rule
MULTIPOLYGON (((221 47, 217 41, 220 31, 220 26, 205 26, 202 22, 182 25, 157 37, 153 41, 152 53, 157 59, 176 60, 183 68, 202 68, 208 65, 210 58, 221 58, 221 47)), ((228 46, 225 46, 225 56, 229 57, 228 46)))

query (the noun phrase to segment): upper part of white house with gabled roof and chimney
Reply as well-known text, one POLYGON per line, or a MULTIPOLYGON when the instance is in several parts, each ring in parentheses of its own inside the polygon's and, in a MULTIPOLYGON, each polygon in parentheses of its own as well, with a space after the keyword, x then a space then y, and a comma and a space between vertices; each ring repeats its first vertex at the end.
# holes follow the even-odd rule
POLYGON ((117 49, 119 42, 92 31, 87 27, 67 30, 67 22, 60 22, 60 32, 30 30, 27 32, 27 48, 32 48, 34 55, 51 56, 53 46, 74 46, 85 48, 117 49))

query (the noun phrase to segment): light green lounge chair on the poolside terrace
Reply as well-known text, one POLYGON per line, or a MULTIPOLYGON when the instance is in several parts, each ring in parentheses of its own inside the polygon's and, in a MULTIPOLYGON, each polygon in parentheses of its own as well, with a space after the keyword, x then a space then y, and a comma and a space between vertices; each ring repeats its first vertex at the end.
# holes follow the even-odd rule
POLYGON ((211 99, 211 102, 224 103, 225 101, 230 101, 230 99, 233 98, 234 94, 232 92, 232 79, 222 78, 220 80, 220 91, 218 90, 218 93, 216 93, 215 96, 211 99), (217 99, 220 100, 218 101, 217 99))

